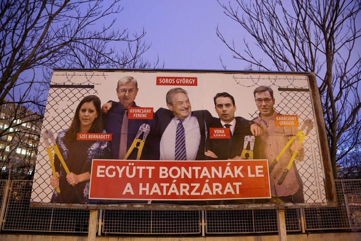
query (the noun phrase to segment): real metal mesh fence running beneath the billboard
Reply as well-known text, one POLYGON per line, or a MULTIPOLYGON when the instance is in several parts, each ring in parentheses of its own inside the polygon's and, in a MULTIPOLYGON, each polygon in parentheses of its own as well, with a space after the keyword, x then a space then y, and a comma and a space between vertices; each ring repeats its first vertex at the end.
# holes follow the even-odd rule
MULTIPOLYGON (((0 197, 4 197, 2 187, 6 181, 0 184, 0 197)), ((287 232, 361 231, 361 179, 336 180, 335 184, 338 207, 287 209, 287 232)), ((2 232, 88 232, 89 210, 30 207, 31 191, 32 181, 12 181, 2 232)), ((274 209, 102 210, 98 220, 101 235, 256 234, 278 232, 276 212, 274 209)))

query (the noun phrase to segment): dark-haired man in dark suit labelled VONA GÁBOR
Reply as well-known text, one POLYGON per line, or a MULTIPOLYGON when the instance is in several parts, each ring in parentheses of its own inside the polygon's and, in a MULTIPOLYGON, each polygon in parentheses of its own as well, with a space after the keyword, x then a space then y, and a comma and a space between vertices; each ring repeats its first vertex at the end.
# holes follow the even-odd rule
POLYGON ((239 159, 245 136, 260 135, 261 130, 252 121, 239 116, 235 117, 237 107, 234 97, 229 93, 217 93, 214 97, 214 103, 219 118, 212 127, 229 128, 230 139, 208 138, 205 155, 209 160, 239 159))

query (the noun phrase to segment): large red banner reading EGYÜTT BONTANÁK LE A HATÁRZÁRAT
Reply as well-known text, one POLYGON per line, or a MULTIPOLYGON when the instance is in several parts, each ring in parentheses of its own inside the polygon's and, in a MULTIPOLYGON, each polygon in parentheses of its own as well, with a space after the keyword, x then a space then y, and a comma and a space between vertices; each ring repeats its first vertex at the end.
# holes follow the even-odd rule
POLYGON ((222 200, 270 198, 267 160, 93 160, 89 198, 222 200))

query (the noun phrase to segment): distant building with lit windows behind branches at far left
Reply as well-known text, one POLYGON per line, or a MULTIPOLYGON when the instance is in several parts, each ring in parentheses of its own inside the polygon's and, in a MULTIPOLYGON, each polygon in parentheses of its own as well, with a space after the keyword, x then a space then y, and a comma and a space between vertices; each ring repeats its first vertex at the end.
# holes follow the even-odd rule
POLYGON ((0 106, 0 179, 32 178, 35 169, 42 116, 28 108, 0 106), (11 172, 9 172, 11 170, 11 172))

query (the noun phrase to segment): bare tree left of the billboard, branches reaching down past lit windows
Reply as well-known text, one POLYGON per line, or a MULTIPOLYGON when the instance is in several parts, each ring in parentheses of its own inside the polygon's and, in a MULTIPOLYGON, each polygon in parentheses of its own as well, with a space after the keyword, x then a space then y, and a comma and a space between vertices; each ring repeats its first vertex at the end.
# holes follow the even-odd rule
POLYGON ((15 108, 0 119, 0 138, 9 140, 0 150, 4 165, 19 145, 29 145, 20 140, 39 137, 40 129, 33 133, 33 127, 41 123, 53 68, 149 68, 158 64, 158 58, 154 62, 143 58, 150 48, 144 30, 130 34, 116 28, 113 17, 123 11, 120 4, 120 0, 1 1, 0 109, 15 108), (23 107, 36 117, 24 119, 23 107), (20 130, 22 125, 29 128, 20 130))

